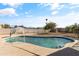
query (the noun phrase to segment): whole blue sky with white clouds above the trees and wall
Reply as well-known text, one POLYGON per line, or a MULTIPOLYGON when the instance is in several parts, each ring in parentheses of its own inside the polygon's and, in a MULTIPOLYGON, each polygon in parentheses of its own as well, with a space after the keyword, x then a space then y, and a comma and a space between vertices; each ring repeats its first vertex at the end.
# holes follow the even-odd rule
POLYGON ((79 4, 0 3, 0 24, 43 27, 46 18, 57 27, 79 23, 79 4))

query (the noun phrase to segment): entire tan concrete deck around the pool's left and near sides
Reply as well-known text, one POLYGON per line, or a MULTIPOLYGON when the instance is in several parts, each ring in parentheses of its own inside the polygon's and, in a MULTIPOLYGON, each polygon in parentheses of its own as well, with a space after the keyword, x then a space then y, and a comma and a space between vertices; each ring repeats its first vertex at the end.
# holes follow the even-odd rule
MULTIPOLYGON (((3 41, 2 37, 7 37, 9 35, 1 35, 0 36, 0 56, 46 56, 51 53, 54 53, 58 50, 64 49, 66 47, 72 47, 76 42, 74 43, 68 43, 64 48, 60 49, 53 49, 53 48, 45 48, 36 46, 29 43, 21 43, 21 42, 15 42, 15 43, 6 43, 3 41)), ((14 35, 17 36, 17 35, 14 35)))

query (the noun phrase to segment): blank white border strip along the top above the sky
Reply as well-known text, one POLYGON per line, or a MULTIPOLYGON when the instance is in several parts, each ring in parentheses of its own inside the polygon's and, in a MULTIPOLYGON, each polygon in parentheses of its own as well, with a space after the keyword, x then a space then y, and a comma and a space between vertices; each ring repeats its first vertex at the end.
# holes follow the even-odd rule
POLYGON ((1 3, 73 3, 79 4, 79 0, 0 0, 1 3))

